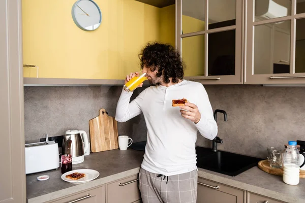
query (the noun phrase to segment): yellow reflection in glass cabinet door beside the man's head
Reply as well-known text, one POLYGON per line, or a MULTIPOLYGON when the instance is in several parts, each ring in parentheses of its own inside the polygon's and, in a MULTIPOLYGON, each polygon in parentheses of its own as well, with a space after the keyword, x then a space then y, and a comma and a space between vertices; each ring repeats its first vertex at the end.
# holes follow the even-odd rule
MULTIPOLYGON (((182 15, 182 31, 204 30, 204 26, 204 21, 182 15)), ((182 39, 181 55, 186 64, 185 76, 204 75, 204 35, 182 39)))

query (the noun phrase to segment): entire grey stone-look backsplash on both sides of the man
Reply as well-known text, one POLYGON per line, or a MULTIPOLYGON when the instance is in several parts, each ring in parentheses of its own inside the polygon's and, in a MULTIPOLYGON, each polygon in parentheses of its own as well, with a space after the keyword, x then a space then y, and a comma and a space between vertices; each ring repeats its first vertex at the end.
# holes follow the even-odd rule
MULTIPOLYGON (((266 147, 284 149, 289 140, 305 140, 305 87, 259 85, 205 85, 212 108, 225 110, 228 121, 218 115, 218 149, 265 158, 266 147)), ((25 141, 60 136, 68 129, 89 133, 89 120, 101 108, 115 115, 120 86, 24 87, 25 141)), ((132 98, 143 88, 137 89, 132 98)), ((134 142, 146 140, 143 115, 118 123, 118 133, 134 142)), ((211 147, 198 134, 197 145, 211 147)))

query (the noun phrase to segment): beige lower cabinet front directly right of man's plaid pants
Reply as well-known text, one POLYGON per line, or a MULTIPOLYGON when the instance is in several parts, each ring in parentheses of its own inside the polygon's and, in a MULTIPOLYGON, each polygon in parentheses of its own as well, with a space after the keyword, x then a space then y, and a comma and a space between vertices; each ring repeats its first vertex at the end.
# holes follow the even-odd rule
POLYGON ((198 178, 198 203, 244 203, 245 197, 244 190, 198 178))

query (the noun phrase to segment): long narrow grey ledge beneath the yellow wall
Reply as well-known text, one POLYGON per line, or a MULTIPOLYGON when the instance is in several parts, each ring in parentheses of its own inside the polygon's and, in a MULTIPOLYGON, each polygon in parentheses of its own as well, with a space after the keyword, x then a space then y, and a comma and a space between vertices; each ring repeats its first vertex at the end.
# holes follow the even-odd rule
MULTIPOLYGON (((148 85, 148 81, 144 85, 148 85)), ((115 86, 124 85, 124 80, 65 79, 65 78, 23 78, 23 86, 115 86)))

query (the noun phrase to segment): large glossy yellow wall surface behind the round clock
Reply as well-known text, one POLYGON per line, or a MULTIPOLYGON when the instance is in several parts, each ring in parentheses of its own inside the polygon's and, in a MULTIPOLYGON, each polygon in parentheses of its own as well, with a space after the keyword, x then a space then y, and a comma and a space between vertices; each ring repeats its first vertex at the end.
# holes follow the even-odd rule
MULTIPOLYGON (((71 16, 74 2, 22 1, 23 63, 38 65, 39 78, 124 79, 139 70, 138 53, 148 41, 174 42, 174 35, 160 37, 162 9, 134 0, 95 0, 101 26, 83 31, 71 16)), ((174 24, 172 19, 161 26, 174 24)))

